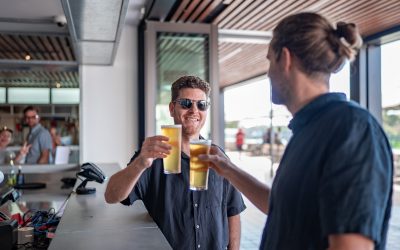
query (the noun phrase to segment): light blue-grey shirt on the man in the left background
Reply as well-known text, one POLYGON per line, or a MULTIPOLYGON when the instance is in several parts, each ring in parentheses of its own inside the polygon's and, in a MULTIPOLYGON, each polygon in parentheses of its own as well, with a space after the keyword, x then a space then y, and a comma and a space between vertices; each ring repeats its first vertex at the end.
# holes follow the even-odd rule
MULTIPOLYGON (((37 124, 32 128, 28 135, 28 144, 32 146, 26 155, 26 164, 36 164, 42 151, 46 149, 49 150, 49 157, 51 157, 51 150, 53 148, 51 135, 50 132, 42 125, 37 124)), ((51 162, 51 159, 49 159, 49 162, 51 162)))

